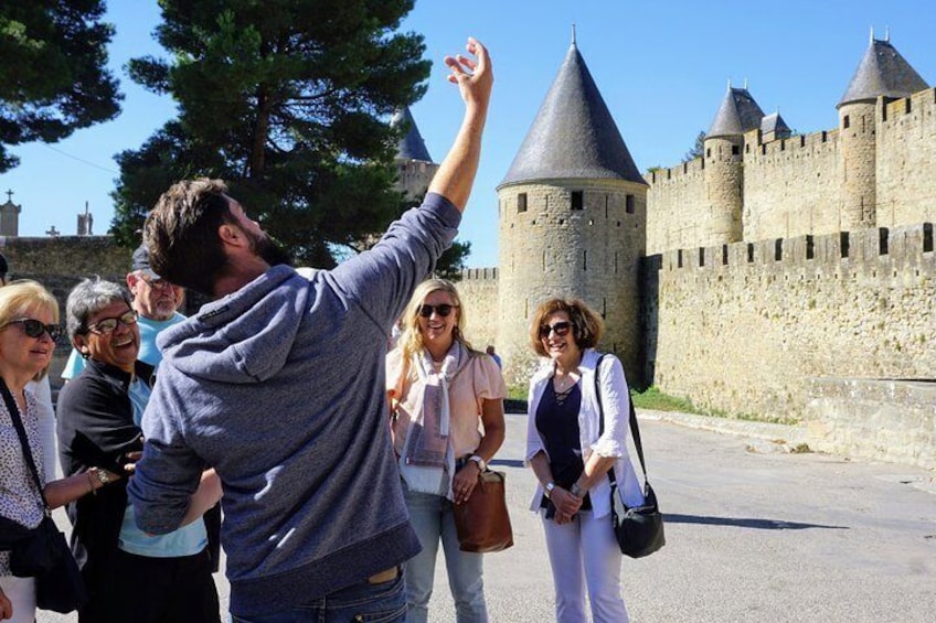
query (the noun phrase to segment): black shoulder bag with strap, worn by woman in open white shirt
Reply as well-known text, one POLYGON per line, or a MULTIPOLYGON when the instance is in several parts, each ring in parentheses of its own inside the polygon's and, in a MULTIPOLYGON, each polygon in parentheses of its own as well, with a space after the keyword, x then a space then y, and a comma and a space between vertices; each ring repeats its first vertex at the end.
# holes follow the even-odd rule
MULTIPOLYGON (((598 437, 605 431, 605 411, 602 407, 600 366, 604 355, 598 357, 595 365, 595 396, 598 399, 598 437)), ((630 558, 642 558, 649 556, 667 544, 663 534, 663 515, 657 505, 657 494, 647 480, 647 464, 644 461, 644 445, 640 443, 640 429, 637 426, 637 413, 634 411, 634 402, 630 404, 630 433, 634 436, 634 445, 640 458, 640 469, 644 470, 644 504, 641 506, 627 506, 617 492, 614 468, 608 470, 608 480, 611 481, 611 522, 614 522, 615 536, 620 547, 620 552, 630 558)))

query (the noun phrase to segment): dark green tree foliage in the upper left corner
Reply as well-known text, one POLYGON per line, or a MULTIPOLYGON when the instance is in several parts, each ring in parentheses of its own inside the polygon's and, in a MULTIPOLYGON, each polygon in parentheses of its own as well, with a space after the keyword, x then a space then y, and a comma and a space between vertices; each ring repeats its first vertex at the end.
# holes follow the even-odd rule
POLYGON ((120 111, 103 14, 103 0, 0 0, 0 172, 19 164, 8 146, 55 142, 120 111))

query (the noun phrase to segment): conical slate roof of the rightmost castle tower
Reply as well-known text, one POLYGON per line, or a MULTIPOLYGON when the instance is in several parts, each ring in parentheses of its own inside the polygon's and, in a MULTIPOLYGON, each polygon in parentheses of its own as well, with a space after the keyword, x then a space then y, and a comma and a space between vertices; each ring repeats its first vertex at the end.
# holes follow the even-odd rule
POLYGON ((926 80, 910 66, 890 41, 871 37, 839 106, 876 99, 878 96, 901 98, 928 88, 926 80))

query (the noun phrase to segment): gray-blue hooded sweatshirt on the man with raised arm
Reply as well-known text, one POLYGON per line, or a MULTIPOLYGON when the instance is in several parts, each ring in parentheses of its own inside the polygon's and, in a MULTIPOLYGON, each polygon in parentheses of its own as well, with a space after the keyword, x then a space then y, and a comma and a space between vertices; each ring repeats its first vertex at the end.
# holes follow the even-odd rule
POLYGON ((455 238, 437 194, 370 251, 311 279, 285 266, 163 331, 128 486, 140 528, 174 530, 221 476, 231 612, 286 610, 419 551, 390 442, 387 336, 455 238))

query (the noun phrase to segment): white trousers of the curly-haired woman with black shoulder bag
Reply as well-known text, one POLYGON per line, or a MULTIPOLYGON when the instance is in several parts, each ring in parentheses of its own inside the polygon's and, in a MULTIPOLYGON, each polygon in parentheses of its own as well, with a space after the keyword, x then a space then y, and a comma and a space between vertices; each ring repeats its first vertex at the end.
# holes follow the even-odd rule
POLYGON ((585 590, 595 623, 626 623, 627 606, 620 597, 621 554, 611 528, 611 518, 595 518, 591 511, 560 526, 543 518, 546 549, 555 583, 556 621, 583 623, 585 590))

